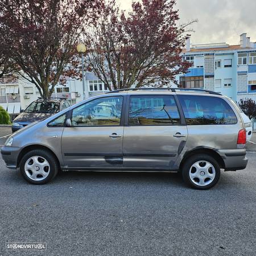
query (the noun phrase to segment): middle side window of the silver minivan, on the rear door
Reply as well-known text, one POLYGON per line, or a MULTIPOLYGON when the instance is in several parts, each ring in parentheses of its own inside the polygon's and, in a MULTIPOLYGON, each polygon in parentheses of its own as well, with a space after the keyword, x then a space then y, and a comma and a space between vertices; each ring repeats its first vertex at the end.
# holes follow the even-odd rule
POLYGON ((172 95, 130 96, 129 125, 179 125, 180 114, 172 95))

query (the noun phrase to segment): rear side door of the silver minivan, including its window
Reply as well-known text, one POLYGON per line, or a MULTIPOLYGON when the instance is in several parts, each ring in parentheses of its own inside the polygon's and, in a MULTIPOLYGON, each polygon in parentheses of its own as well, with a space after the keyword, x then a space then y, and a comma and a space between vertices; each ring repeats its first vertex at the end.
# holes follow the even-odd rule
POLYGON ((134 94, 129 97, 126 111, 123 166, 175 168, 175 160, 187 141, 188 132, 174 95, 134 94))

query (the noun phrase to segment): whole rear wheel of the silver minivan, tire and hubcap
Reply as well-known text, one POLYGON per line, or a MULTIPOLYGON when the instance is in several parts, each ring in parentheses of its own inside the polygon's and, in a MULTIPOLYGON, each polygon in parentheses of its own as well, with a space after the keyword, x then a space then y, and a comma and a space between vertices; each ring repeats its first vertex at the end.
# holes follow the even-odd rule
POLYGON ((197 154, 185 160, 182 167, 185 183, 196 189, 212 188, 220 179, 220 165, 210 155, 197 154))

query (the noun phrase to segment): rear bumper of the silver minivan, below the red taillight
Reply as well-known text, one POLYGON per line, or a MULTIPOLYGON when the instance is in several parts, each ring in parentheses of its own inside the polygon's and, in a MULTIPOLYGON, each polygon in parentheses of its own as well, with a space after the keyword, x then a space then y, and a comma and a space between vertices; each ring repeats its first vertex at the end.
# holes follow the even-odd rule
POLYGON ((247 166, 245 148, 237 148, 232 150, 217 150, 225 163, 225 171, 243 170, 247 166))

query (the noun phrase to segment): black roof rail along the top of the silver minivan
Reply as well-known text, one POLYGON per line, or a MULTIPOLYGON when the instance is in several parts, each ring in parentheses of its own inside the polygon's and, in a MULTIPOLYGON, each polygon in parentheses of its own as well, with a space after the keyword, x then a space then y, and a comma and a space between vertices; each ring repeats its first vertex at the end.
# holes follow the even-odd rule
POLYGON ((109 92, 106 93, 118 93, 118 92, 125 92, 127 90, 170 90, 171 92, 179 92, 179 91, 191 91, 191 92, 205 92, 209 94, 215 94, 215 95, 222 95, 221 93, 213 92, 212 90, 204 90, 204 89, 193 89, 193 88, 171 88, 171 87, 166 87, 166 88, 155 88, 155 87, 148 87, 148 88, 126 88, 126 89, 118 89, 118 90, 110 90, 109 92))

